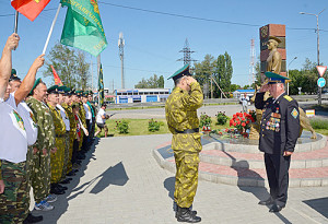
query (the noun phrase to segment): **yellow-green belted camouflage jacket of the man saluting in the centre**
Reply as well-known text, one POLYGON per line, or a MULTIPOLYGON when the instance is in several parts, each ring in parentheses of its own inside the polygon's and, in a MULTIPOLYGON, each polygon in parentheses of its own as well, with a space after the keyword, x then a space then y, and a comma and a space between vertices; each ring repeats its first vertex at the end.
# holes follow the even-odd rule
POLYGON ((190 84, 190 92, 175 87, 165 104, 165 115, 169 131, 174 134, 173 150, 199 152, 201 150, 200 133, 177 133, 186 129, 199 127, 197 109, 203 101, 199 83, 190 84))

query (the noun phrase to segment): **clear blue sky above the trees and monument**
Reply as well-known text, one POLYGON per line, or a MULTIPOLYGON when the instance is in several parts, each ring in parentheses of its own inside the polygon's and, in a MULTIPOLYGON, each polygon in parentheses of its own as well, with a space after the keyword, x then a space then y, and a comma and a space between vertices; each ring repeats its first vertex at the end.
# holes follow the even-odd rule
MULTIPOLYGON (((19 19, 19 48, 13 52, 13 68, 23 78, 34 59, 42 54, 55 17, 59 0, 51 0, 39 16, 31 22, 19 19)), ((301 69, 308 58, 317 61, 316 16, 319 15, 320 62, 328 64, 328 1, 327 0, 102 0, 98 1, 101 17, 108 42, 101 54, 104 84, 109 91, 121 89, 119 33, 125 38, 125 86, 133 89, 143 78, 163 75, 165 87, 173 87, 166 80, 184 63, 179 52, 188 39, 191 58, 202 61, 210 54, 214 58, 225 51, 232 57, 232 83, 250 84, 250 40, 255 39, 256 60, 260 55, 259 28, 267 24, 286 26, 286 63, 289 69, 301 69), (156 13, 154 13, 156 12, 156 13), (177 16, 178 15, 178 16, 177 16), (195 20, 198 17, 201 20, 195 20), (293 60, 297 57, 296 60, 293 60), (292 61, 293 60, 293 61, 292 61)), ((60 40, 66 8, 61 8, 46 51, 60 40)), ((0 0, 0 48, 13 32, 14 9, 10 0, 0 0)), ((93 85, 96 87, 96 58, 86 54, 93 62, 93 85)), ((37 78, 43 78, 43 68, 37 78)), ((51 84, 52 79, 45 79, 51 84)))

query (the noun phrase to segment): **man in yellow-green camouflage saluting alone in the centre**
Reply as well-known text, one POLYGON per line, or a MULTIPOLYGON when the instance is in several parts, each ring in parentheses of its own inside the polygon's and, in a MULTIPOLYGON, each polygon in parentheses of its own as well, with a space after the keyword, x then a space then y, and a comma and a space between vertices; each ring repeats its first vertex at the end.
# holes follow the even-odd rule
POLYGON ((172 149, 176 163, 176 219, 178 222, 197 223, 201 219, 196 216, 196 211, 191 211, 191 205, 198 186, 199 152, 202 149, 197 109, 202 105, 203 95, 199 83, 189 73, 189 64, 171 78, 175 89, 166 101, 165 114, 173 133, 172 149))

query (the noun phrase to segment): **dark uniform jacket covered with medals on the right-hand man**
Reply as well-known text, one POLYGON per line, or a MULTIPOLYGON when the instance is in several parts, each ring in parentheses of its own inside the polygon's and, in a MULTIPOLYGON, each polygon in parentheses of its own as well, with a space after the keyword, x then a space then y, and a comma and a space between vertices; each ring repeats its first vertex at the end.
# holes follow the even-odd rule
POLYGON ((294 152, 300 134, 300 111, 295 99, 283 93, 277 101, 263 101, 265 93, 257 93, 255 107, 263 109, 259 150, 268 154, 294 152))

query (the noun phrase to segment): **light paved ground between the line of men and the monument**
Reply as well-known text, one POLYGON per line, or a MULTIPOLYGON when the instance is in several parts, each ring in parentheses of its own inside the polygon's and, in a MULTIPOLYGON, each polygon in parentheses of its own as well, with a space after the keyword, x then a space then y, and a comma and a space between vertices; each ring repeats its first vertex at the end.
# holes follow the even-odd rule
MULTIPOLYGON (((177 223, 174 219, 174 174, 161 168, 152 150, 171 134, 102 139, 90 162, 59 196, 54 211, 43 214, 52 223, 177 223)), ((201 223, 328 223, 328 187, 291 188, 288 207, 272 214, 258 205, 267 189, 200 180, 194 209, 201 223)))

